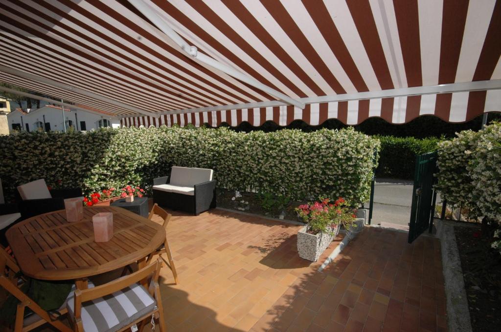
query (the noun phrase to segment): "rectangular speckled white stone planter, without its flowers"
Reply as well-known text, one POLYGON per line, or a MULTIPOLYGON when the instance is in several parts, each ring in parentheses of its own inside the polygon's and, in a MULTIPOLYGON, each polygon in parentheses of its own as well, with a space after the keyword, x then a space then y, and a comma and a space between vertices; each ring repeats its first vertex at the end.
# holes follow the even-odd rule
POLYGON ((307 233, 308 225, 301 228, 298 232, 298 253, 303 259, 317 261, 322 252, 329 246, 334 237, 339 233, 339 225, 333 229, 334 234, 307 233))

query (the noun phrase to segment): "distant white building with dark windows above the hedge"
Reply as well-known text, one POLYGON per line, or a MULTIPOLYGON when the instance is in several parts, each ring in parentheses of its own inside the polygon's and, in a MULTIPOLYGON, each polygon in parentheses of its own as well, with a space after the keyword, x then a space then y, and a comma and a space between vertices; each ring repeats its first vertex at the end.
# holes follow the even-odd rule
POLYGON ((120 120, 112 114, 100 110, 81 110, 63 108, 61 106, 45 105, 38 109, 23 110, 16 108, 7 115, 9 130, 44 130, 64 131, 73 127, 75 130, 85 131, 99 127, 119 127, 120 120), (63 123, 63 116, 65 123, 63 123))

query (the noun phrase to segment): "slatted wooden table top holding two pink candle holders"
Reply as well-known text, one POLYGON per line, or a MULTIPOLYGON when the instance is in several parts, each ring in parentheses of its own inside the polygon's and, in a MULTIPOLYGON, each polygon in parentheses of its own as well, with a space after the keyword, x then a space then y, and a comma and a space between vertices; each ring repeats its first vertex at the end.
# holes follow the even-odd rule
POLYGON ((116 206, 84 207, 66 220, 65 210, 23 220, 6 233, 24 274, 44 280, 81 279, 139 261, 165 241, 162 225, 116 206), (113 237, 94 242, 92 216, 113 213, 113 237))

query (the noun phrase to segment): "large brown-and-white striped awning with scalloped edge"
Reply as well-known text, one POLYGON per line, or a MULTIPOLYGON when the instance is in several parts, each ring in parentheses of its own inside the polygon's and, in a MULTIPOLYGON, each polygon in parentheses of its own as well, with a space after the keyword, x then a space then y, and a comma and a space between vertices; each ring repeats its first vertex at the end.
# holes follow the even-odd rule
POLYGON ((187 57, 127 0, 0 1, 0 81, 128 126, 501 111, 501 0, 137 1, 305 108, 187 57))

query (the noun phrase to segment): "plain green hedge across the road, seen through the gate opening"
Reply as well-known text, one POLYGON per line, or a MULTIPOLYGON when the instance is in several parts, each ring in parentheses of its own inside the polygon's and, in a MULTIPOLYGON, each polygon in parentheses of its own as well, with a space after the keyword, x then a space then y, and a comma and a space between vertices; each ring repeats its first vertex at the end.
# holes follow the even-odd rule
POLYGON ((435 151, 440 138, 393 137, 374 136, 381 142, 379 165, 376 170, 378 176, 412 179, 416 155, 435 151))

